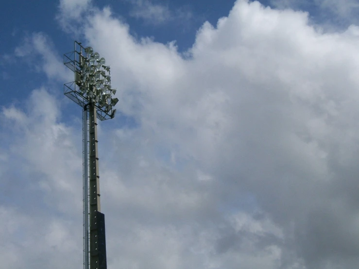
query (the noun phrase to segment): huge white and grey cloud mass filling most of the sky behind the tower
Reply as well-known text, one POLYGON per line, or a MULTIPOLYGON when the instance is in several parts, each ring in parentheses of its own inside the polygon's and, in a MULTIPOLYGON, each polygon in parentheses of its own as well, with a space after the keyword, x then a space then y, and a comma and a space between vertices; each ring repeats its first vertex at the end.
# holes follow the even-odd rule
MULTIPOLYGON (((108 8, 94 14, 87 41, 112 66, 118 109, 138 122, 99 125, 109 268, 358 268, 358 29, 308 24, 307 13, 239 0, 199 29, 185 58, 137 41, 108 8)), ((80 128, 60 122, 44 90, 28 110, 2 114, 17 123, 4 150, 37 186, 25 197, 40 194, 51 209, 44 239, 24 241, 52 256, 30 268, 60 268, 67 250, 77 268, 80 128)), ((4 242, 1 252, 12 247, 4 242)))

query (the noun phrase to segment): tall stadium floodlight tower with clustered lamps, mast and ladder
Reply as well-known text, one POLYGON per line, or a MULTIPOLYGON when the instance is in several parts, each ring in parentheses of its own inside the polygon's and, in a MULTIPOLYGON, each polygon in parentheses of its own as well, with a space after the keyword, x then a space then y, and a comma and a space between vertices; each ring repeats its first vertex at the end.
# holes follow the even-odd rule
POLYGON ((114 118, 113 107, 119 100, 112 95, 117 89, 111 87, 110 66, 91 47, 75 41, 74 51, 64 54, 64 65, 75 76, 73 82, 64 84, 64 94, 83 108, 84 269, 106 269, 96 118, 114 118))

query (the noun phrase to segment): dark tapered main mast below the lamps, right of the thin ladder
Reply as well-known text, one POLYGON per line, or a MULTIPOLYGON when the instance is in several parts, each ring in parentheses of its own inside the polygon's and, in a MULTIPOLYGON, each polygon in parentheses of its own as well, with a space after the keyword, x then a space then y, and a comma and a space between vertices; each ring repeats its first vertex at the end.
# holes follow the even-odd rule
POLYGON ((98 234, 98 212, 100 205, 99 184, 99 158, 97 151, 97 118, 96 107, 93 103, 88 104, 90 130, 89 130, 89 161, 90 161, 90 269, 100 269, 99 260, 99 234, 98 234))

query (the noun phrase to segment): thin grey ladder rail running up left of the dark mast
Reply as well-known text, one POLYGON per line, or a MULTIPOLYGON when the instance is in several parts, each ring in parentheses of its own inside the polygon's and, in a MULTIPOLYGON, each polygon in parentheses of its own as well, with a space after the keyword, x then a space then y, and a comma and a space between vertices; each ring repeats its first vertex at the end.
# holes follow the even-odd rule
POLYGON ((87 152, 87 107, 84 107, 83 111, 83 122, 82 122, 82 130, 83 130, 83 161, 84 161, 84 269, 88 268, 88 152, 87 152))

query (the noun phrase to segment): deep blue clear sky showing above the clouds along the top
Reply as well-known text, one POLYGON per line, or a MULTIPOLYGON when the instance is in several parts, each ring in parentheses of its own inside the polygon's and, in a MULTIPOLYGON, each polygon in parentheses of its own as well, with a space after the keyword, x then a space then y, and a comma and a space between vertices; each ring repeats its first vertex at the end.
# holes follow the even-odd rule
MULTIPOLYGON (((136 1, 135 1, 136 2, 136 1)), ((146 2, 146 1, 144 1, 146 2)), ((96 7, 103 8, 109 6, 115 17, 129 24, 131 34, 136 38, 151 37, 156 42, 167 43, 176 41, 178 50, 187 51, 193 45, 196 31, 205 21, 209 21, 212 25, 216 25, 220 17, 227 16, 234 1, 229 0, 209 0, 209 1, 153 1, 154 6, 163 7, 166 18, 164 22, 151 21, 149 18, 136 16, 136 4, 129 0, 105 0, 95 1, 96 7), (182 17, 181 17, 182 16, 182 17), (184 19, 184 17, 186 17, 184 19)), ((275 8, 276 2, 261 1, 265 6, 275 8)), ((323 17, 332 23, 333 27, 339 26, 341 29, 349 25, 348 22, 339 20, 337 17, 330 17, 324 11, 318 8, 318 5, 310 1, 296 2, 295 9, 300 9, 310 13, 313 21, 323 23, 323 17)), ((43 33, 49 37, 48 42, 54 50, 55 57, 59 58, 65 52, 72 49, 74 39, 81 41, 81 34, 71 34, 63 31, 56 19, 59 11, 59 3, 56 1, 38 0, 34 2, 27 1, 9 1, 3 6, 3 14, 14 14, 13 16, 4 16, 2 25, 6 25, 1 30, 3 36, 0 41, 0 49, 2 51, 2 78, 4 88, 13 88, 12 101, 20 101, 21 96, 26 94, 26 88, 33 88, 44 82, 42 74, 34 71, 29 66, 31 61, 24 62, 14 55, 14 48, 19 47, 23 40, 33 33, 43 33), (10 58, 9 58, 10 57, 10 58), (21 68, 22 67, 22 68, 21 68), (21 73, 23 79, 17 80, 17 87, 13 87, 12 81, 21 73)), ((325 21, 326 22, 326 21, 325 21)), ((35 61, 35 59, 32 59, 35 61)), ((45 82, 44 82, 45 83, 45 82)), ((51 83, 46 81, 46 83, 51 83)), ((59 85, 59 84, 57 84, 59 85)), ((5 91, 0 93, 5 94, 5 91)), ((4 97, 4 96, 3 96, 4 97)), ((3 101, 7 98, 1 98, 3 101)), ((4 104, 1 102, 1 104, 4 104)))

